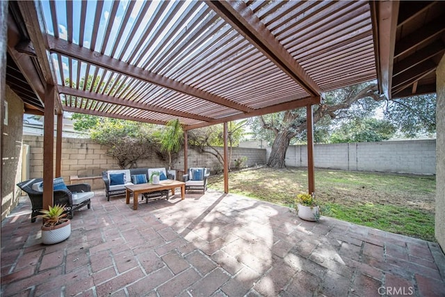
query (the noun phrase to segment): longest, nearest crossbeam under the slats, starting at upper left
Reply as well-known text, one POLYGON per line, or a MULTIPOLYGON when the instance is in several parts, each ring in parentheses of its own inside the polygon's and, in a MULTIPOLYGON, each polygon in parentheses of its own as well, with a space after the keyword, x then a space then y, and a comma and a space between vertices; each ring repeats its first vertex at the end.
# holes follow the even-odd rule
POLYGON ((213 95, 203 90, 193 88, 192 86, 188 86, 185 83, 175 81, 174 79, 169 79, 159 74, 143 70, 140 67, 119 61, 118 59, 110 56, 102 55, 97 51, 90 51, 89 49, 80 47, 79 45, 75 45, 74 43, 67 42, 66 40, 60 38, 55 38, 51 35, 48 35, 47 38, 49 43, 49 51, 53 53, 68 56, 79 61, 84 61, 85 63, 103 67, 112 72, 124 74, 127 77, 132 77, 133 79, 153 83, 156 86, 161 86, 163 88, 168 88, 169 90, 174 90, 179 93, 201 98, 231 109, 236 109, 243 112, 252 111, 252 109, 243 104, 232 102, 223 97, 213 95))

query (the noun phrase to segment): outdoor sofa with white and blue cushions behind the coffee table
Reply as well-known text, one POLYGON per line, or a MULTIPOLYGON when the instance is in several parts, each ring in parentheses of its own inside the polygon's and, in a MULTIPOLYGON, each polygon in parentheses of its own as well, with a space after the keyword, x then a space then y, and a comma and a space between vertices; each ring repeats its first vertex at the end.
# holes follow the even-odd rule
MULTIPOLYGON (((110 201, 110 197, 125 194, 125 186, 132 184, 144 184, 150 182, 152 172, 160 172, 160 179, 175 179, 174 176, 168 175, 165 168, 132 168, 120 170, 106 170, 102 172, 102 179, 105 183, 106 200, 110 201)), ((143 198, 168 198, 168 190, 144 193, 143 198)))

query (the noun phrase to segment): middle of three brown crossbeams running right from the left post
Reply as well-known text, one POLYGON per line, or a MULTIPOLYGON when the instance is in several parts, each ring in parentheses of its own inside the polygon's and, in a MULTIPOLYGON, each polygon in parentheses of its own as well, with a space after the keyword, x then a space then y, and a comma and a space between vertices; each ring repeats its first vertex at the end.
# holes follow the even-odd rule
POLYGON ((71 95, 71 96, 75 96, 75 97, 86 98, 86 99, 92 99, 92 100, 105 102, 105 103, 110 103, 110 104, 117 104, 117 105, 121 105, 121 106, 128 106, 128 107, 132 107, 132 108, 135 108, 135 109, 141 109, 141 110, 144 110, 144 111, 153 111, 153 112, 156 112, 156 113, 164 113, 164 114, 167 114, 167 115, 176 115, 176 116, 182 117, 182 118, 191 118, 191 119, 194 119, 194 120, 202 120, 204 122, 209 122, 209 121, 213 120, 212 118, 207 118, 207 117, 204 117, 202 115, 196 115, 196 114, 193 114, 193 113, 186 113, 186 112, 183 112, 183 111, 175 111, 174 109, 166 109, 166 108, 163 108, 163 107, 154 106, 152 104, 145 104, 145 103, 142 103, 142 102, 135 102, 133 100, 125 100, 125 99, 113 97, 113 96, 110 96, 110 95, 104 95, 104 94, 99 94, 99 93, 95 93, 95 92, 89 92, 89 91, 85 91, 85 90, 69 88, 67 86, 58 86, 58 93, 59 94, 65 94, 65 95, 71 95))

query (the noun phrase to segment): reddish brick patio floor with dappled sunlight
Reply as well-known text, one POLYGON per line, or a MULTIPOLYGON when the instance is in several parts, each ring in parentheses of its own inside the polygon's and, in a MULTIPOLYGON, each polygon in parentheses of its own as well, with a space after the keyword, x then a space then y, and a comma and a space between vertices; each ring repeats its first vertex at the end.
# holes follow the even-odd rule
POLYGON ((97 191, 44 246, 22 199, 1 222, 1 296, 445 296, 437 243, 216 191, 131 207, 97 191))

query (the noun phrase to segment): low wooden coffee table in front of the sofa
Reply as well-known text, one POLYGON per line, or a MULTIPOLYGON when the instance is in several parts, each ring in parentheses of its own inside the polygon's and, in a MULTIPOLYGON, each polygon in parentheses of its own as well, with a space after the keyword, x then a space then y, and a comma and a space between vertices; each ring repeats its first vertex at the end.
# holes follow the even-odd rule
POLYGON ((172 190, 172 195, 175 195, 175 188, 181 188, 181 199, 184 200, 186 196, 186 183, 177 180, 165 180, 159 184, 132 184, 125 186, 127 204, 130 203, 130 193, 133 192, 133 210, 138 209, 138 196, 140 193, 149 193, 161 190, 172 190))

